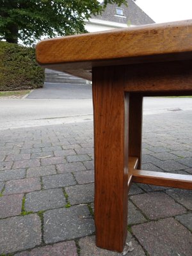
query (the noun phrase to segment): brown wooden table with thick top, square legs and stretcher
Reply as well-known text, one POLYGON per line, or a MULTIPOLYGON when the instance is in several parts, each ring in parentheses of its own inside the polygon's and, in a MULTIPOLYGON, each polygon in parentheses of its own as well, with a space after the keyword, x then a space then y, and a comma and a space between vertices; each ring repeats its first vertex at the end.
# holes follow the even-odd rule
POLYGON ((132 182, 192 189, 140 170, 143 97, 192 95, 192 20, 44 40, 36 60, 93 82, 96 244, 122 252, 132 182))

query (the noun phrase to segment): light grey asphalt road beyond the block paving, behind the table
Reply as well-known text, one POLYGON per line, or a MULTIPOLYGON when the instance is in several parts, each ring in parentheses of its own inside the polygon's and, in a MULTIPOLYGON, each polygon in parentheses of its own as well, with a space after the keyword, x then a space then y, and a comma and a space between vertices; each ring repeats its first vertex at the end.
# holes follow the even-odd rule
MULTIPOLYGON (((79 85, 78 85, 79 86, 79 85)), ((54 86, 49 90, 41 89, 33 91, 25 99, 0 99, 0 129, 14 129, 19 127, 34 127, 41 125, 65 124, 71 122, 83 122, 93 120, 93 104, 91 86, 84 85, 83 94, 70 93, 70 86, 56 93, 54 86), (49 91, 49 92, 48 92, 49 91), (61 92, 62 91, 62 92, 61 92), (48 92, 48 93, 47 93, 48 92), (56 99, 56 94, 65 95, 67 99, 56 99), (53 96, 53 99, 49 99, 53 96), (45 99, 45 98, 48 99, 45 99)), ((77 86, 72 86, 75 90, 77 86)), ((191 111, 192 98, 144 98, 143 115, 156 115, 157 113, 173 113, 174 111, 191 111)))

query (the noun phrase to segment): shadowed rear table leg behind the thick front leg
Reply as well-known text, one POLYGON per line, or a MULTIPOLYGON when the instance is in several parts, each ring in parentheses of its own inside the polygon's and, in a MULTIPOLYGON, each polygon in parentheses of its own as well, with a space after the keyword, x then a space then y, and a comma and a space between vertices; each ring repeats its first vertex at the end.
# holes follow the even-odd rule
POLYGON ((143 97, 138 93, 129 95, 129 156, 138 157, 141 169, 143 97))

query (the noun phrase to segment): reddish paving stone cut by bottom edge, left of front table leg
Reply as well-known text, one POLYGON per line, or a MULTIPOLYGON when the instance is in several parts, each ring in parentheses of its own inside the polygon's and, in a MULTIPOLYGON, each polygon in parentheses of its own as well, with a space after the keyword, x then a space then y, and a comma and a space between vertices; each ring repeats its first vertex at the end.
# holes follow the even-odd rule
POLYGON ((76 243, 74 241, 66 241, 58 244, 46 245, 35 248, 31 252, 21 252, 15 256, 78 256, 76 243))

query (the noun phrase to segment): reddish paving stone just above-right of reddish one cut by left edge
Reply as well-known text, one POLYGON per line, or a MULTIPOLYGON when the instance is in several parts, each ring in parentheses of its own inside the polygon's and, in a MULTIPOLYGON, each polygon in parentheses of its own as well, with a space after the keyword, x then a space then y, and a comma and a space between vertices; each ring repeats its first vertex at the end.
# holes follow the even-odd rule
POLYGON ((5 184, 3 195, 27 193, 40 190, 41 184, 38 178, 28 178, 21 180, 10 180, 5 184))

